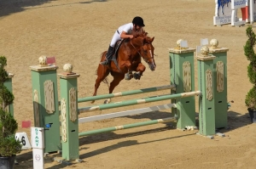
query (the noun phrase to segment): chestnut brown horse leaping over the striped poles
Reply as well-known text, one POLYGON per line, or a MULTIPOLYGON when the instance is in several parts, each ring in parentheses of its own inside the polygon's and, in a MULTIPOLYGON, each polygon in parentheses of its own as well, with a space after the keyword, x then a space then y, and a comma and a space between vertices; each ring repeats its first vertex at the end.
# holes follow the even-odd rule
MULTIPOLYGON (((148 37, 148 32, 145 31, 132 31, 132 35, 134 36, 133 38, 125 39, 120 44, 116 54, 116 64, 112 60, 107 66, 98 65, 93 96, 96 96, 101 82, 108 84, 107 76, 109 73, 113 76, 110 86, 108 84, 109 93, 113 93, 114 87, 118 86, 119 82, 124 78, 125 80, 131 80, 134 77, 136 80, 140 80, 146 70, 146 67, 141 62, 142 58, 148 64, 150 70, 155 70, 154 47, 152 45, 154 37, 148 37), (135 71, 135 73, 132 74, 132 71, 135 71)), ((105 51, 101 54, 101 61, 105 59, 107 52, 105 51)), ((110 99, 105 100, 104 104, 109 102, 110 99)), ((91 101, 91 103, 94 103, 94 101, 91 101)))

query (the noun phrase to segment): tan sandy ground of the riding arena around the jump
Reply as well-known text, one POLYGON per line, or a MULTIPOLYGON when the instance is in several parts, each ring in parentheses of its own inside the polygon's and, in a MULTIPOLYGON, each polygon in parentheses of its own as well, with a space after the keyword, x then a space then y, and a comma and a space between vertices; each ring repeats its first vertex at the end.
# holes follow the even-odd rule
MULTIPOLYGON (((176 47, 177 39, 188 40, 189 47, 200 45, 201 38, 216 38, 219 46, 229 48, 228 99, 234 100, 228 113, 230 129, 226 137, 203 138, 196 131, 182 132, 163 124, 137 127, 80 138, 80 159, 83 163, 65 166, 45 159, 45 167, 57 168, 255 168, 255 124, 247 115, 244 99, 252 87, 247 78, 248 61, 243 54, 247 40, 246 26, 213 26, 215 3, 212 0, 0 0, 0 54, 8 59, 7 70, 14 73, 15 118, 33 122, 32 82, 30 65, 38 65, 41 55, 55 56, 58 72, 71 63, 79 77, 79 98, 93 93, 95 70, 100 54, 107 50, 113 32, 119 25, 131 22, 136 15, 143 17, 145 30, 154 39, 157 68, 148 66, 140 81, 122 81, 114 92, 170 83, 168 48, 176 47)), ((195 68, 196 70, 196 68, 195 68)), ((110 78, 111 79, 111 78, 110 78)), ((195 80, 195 83, 197 80, 195 80)), ((108 93, 102 84, 98 94, 108 93)), ((139 99, 165 92, 133 96, 139 99)), ((132 97, 125 97, 131 99, 132 97)), ((113 102, 120 99, 113 99, 113 102)), ((146 106, 167 104, 162 101, 146 106)), ((102 100, 96 104, 102 104, 102 100)), ((87 104, 88 105, 88 104, 87 104)), ((89 104, 90 105, 90 104, 89 104)), ((142 108, 130 106, 102 110, 86 115, 99 115, 119 110, 142 108)), ((148 119, 164 118, 169 110, 97 121, 81 125, 79 131, 113 127, 148 119)), ((84 115, 84 116, 86 116, 84 115)), ((30 134, 29 134, 30 137, 30 134)), ((32 168, 32 150, 17 155, 19 166, 32 168)))

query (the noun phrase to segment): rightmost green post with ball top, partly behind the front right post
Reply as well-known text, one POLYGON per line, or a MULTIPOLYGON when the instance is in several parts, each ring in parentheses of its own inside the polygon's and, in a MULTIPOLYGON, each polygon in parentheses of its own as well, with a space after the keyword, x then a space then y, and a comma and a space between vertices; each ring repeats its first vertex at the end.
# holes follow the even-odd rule
POLYGON ((216 58, 213 60, 214 68, 214 98, 215 98, 215 126, 222 128, 228 126, 228 109, 227 109, 227 52, 228 48, 218 48, 218 41, 212 39, 212 47, 209 53, 216 58))

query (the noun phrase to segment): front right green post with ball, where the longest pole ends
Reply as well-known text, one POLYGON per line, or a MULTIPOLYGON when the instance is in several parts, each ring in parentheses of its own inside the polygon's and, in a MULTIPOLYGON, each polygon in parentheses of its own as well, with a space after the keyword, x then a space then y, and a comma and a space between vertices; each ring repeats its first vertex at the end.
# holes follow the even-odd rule
POLYGON ((215 134, 215 106, 214 106, 214 56, 208 55, 209 48, 201 48, 201 55, 197 56, 198 85, 201 91, 199 98, 199 133, 204 136, 215 134))

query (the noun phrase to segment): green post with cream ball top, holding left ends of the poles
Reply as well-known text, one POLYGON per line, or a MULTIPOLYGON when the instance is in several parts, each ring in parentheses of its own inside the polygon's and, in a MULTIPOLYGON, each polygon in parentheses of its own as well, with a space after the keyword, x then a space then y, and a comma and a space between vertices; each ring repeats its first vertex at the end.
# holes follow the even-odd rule
POLYGON ((61 84, 62 159, 79 160, 78 77, 72 65, 63 67, 69 73, 58 74, 61 84), (68 69, 68 70, 67 70, 68 69))

